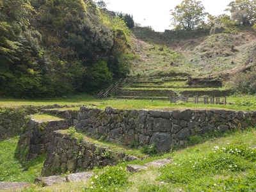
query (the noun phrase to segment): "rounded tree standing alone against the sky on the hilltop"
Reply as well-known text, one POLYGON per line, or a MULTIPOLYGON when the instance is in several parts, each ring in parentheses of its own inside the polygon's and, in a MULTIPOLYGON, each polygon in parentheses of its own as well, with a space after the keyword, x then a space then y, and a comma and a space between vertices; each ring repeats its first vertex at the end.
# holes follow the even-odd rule
POLYGON ((184 0, 181 4, 170 10, 172 26, 176 29, 192 30, 204 23, 204 18, 208 14, 204 12, 201 1, 184 0))

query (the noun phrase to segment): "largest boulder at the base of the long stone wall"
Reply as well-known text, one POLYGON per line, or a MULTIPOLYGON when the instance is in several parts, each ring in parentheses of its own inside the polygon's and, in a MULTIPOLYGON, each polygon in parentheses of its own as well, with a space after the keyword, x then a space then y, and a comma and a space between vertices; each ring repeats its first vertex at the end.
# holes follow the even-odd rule
POLYGON ((155 144, 157 152, 166 152, 170 150, 172 145, 172 133, 170 132, 154 132, 149 141, 149 145, 155 144))

